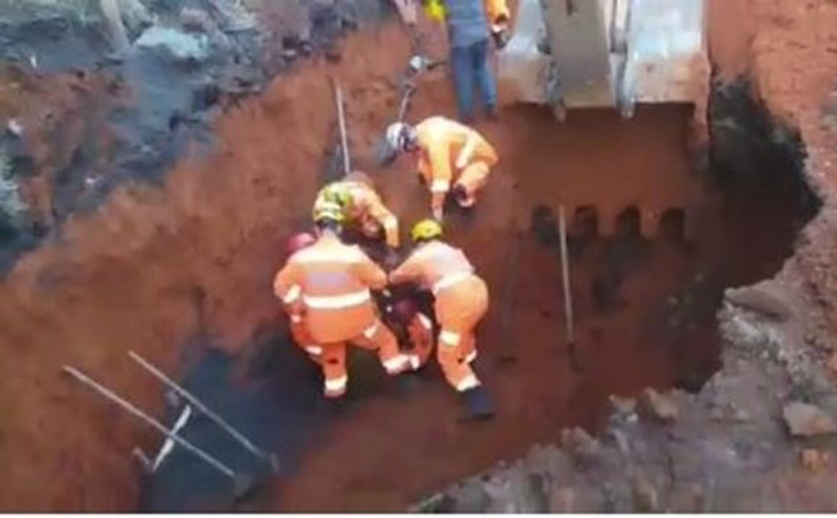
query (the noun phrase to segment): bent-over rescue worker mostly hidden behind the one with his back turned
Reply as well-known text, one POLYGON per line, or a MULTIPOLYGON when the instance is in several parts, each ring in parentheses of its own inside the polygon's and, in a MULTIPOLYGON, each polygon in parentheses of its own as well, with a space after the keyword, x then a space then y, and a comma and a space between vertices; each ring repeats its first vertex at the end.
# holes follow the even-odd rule
POLYGON ((399 247, 398 217, 383 204, 367 174, 355 171, 323 187, 314 202, 315 209, 335 206, 343 211, 346 226, 357 227, 370 239, 378 237, 383 229, 387 245, 399 247))

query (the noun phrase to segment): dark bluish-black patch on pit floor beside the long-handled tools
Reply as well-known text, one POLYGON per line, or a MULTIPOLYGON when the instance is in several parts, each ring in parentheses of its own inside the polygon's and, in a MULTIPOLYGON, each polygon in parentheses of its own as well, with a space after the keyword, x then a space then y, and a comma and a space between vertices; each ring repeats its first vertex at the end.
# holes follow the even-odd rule
MULTIPOLYGON (((315 439, 328 416, 320 404, 318 373, 281 334, 265 333, 251 347, 257 352, 239 379, 237 359, 218 350, 205 350, 181 381, 257 446, 273 452, 280 475, 296 471, 305 446, 315 439)), ((169 398, 167 398, 169 399, 169 398)), ((183 404, 166 406, 172 427, 183 404)), ((180 434, 215 455, 242 477, 254 481, 248 499, 275 476, 270 466, 228 435, 208 418, 193 413, 180 434)), ((236 507, 231 479, 205 462, 175 447, 141 483, 140 510, 230 510, 236 507)))

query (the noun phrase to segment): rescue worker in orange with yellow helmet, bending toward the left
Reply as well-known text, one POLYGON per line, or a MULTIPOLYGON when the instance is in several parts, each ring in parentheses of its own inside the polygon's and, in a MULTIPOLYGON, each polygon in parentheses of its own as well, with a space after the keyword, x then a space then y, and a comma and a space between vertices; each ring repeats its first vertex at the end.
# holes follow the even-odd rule
POLYGON ((489 418, 493 414, 491 401, 471 368, 477 357, 475 330, 488 311, 488 288, 465 253, 442 241, 437 222, 420 222, 412 237, 416 248, 390 273, 390 283, 416 282, 433 292, 442 371, 461 395, 468 418, 489 418))

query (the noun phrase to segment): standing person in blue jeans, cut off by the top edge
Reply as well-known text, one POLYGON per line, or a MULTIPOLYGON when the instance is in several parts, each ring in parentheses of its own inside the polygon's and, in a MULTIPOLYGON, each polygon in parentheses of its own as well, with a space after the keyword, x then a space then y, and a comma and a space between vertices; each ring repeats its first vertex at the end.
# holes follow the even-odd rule
POLYGON ((431 19, 444 18, 447 24, 459 120, 474 119, 477 87, 486 115, 497 118, 497 82, 488 62, 489 36, 499 48, 508 42, 506 0, 427 0, 426 9, 431 19))

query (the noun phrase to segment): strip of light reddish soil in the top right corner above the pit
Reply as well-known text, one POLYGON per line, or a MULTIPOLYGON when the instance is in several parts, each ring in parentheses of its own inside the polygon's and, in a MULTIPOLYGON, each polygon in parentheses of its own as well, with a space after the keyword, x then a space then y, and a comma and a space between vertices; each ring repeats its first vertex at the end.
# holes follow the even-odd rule
MULTIPOLYGON (((825 201, 794 257, 837 331, 837 3, 828 0, 713 0, 710 43, 727 78, 748 74, 771 112, 800 129, 807 175, 825 201), (727 15, 728 10, 735 14, 727 15)), ((833 339, 828 339, 833 342, 833 339)))

